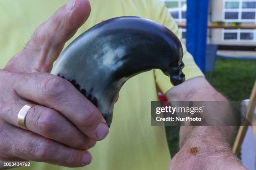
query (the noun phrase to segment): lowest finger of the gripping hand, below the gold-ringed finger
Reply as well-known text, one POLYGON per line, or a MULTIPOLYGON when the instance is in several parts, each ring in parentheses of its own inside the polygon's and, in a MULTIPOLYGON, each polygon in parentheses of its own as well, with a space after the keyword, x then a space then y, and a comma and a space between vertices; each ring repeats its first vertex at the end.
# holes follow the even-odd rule
POLYGON ((18 157, 66 167, 82 167, 90 164, 92 160, 88 151, 69 148, 7 123, 2 124, 1 128, 1 151, 4 151, 5 156, 10 158, 18 157))

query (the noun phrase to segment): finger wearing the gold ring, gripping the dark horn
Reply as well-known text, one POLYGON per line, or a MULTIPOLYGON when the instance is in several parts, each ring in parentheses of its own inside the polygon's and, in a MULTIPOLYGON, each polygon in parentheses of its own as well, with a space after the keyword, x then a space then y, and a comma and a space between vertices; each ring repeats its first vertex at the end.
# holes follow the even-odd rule
MULTIPOLYGON (((28 102, 15 101, 10 107, 12 112, 3 113, 3 119, 17 127, 18 112, 28 102)), ((90 139, 84 135, 67 118, 53 109, 36 105, 26 115, 26 128, 46 138, 53 139, 76 149, 87 149, 90 139)), ((92 145, 92 144, 90 144, 92 145)))

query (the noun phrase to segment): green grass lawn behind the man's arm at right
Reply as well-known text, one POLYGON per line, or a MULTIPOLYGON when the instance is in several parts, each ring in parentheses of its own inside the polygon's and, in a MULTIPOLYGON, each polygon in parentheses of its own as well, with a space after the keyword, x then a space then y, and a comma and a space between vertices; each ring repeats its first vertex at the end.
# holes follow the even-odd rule
MULTIPOLYGON (((217 59, 212 86, 229 100, 249 98, 256 79, 256 60, 217 59)), ((172 157, 179 150, 179 126, 166 126, 166 136, 172 157)))

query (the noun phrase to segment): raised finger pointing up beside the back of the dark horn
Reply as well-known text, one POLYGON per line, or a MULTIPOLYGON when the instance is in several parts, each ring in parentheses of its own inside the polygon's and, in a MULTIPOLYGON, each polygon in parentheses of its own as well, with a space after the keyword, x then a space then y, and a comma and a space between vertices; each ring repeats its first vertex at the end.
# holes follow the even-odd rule
MULTIPOLYGON (((36 28, 31 40, 19 55, 25 57, 19 69, 29 72, 50 71, 64 44, 90 15, 88 0, 71 0, 60 7, 45 23, 36 28)), ((16 66, 17 68, 17 66, 16 66)))

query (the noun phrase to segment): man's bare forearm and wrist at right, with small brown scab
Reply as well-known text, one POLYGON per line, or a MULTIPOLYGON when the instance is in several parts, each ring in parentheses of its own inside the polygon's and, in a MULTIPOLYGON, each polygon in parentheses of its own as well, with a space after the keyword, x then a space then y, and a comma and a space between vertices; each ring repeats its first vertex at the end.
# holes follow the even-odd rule
MULTIPOLYGON (((204 77, 187 80, 166 95, 171 103, 226 100, 204 77)), ((172 158, 170 170, 246 170, 230 150, 233 131, 233 126, 181 126, 180 150, 172 158), (197 153, 190 153, 191 149, 197 153)))

